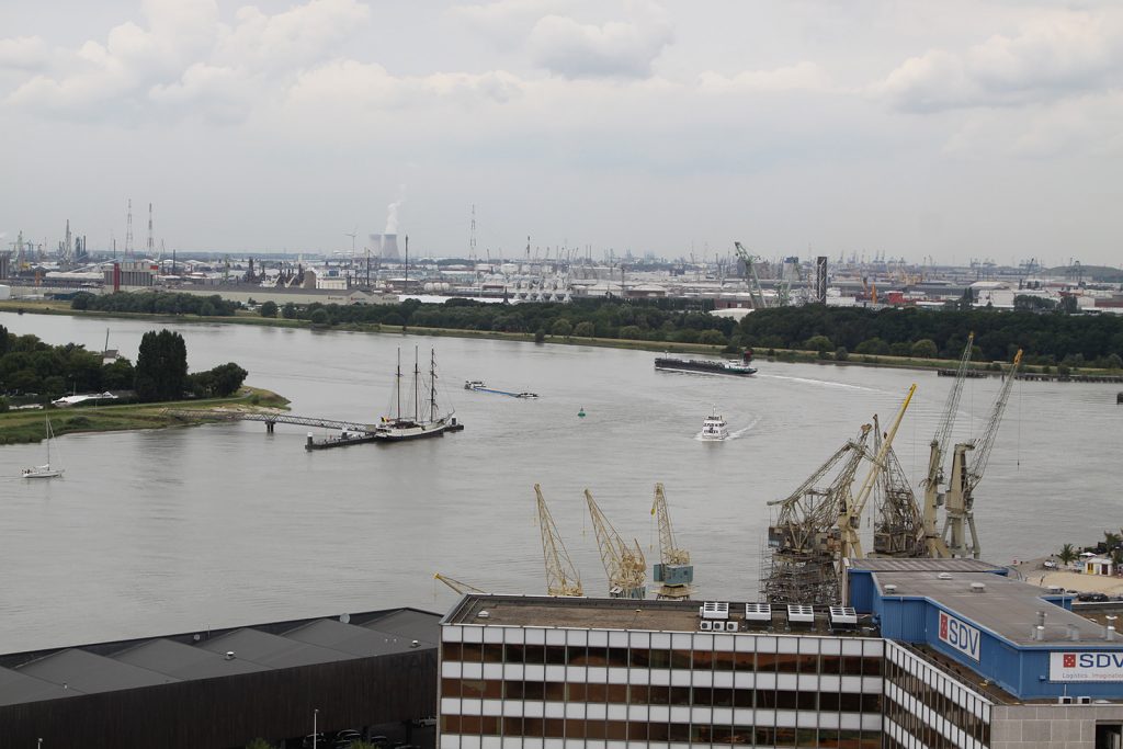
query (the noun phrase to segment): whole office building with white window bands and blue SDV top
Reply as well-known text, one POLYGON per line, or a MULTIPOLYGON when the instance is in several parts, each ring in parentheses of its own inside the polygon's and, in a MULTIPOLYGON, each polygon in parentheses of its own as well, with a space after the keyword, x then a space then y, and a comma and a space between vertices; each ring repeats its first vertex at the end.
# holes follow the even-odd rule
POLYGON ((1108 749, 1123 640, 973 559, 847 560, 846 605, 466 595, 440 749, 1108 749))

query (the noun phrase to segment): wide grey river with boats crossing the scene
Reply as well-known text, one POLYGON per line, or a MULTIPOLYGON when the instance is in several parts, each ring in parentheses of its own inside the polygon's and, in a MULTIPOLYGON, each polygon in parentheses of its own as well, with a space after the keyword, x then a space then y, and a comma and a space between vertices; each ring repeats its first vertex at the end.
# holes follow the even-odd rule
MULTIPOLYGON (((136 360, 163 323, 0 314, 15 334, 136 360)), ((494 592, 544 593, 540 483, 585 591, 606 583, 582 490, 658 555, 652 486, 666 485, 697 597, 755 600, 768 500, 786 496, 876 412, 916 396, 895 447, 919 481, 950 378, 759 363, 748 380, 659 373, 652 354, 400 335, 179 325, 193 371, 237 362, 292 412, 374 421, 395 351, 437 347, 442 394, 466 424, 441 439, 309 453, 307 430, 262 423, 56 440, 63 478, 20 479, 43 445, 0 448, 0 650, 189 632, 403 605, 445 611, 435 572, 494 592), (467 392, 463 382, 541 394, 467 392), (710 409, 734 438, 697 439, 710 409), (577 413, 584 409, 585 418, 577 413)), ((997 378, 965 386, 956 438, 978 436, 997 378)), ((1088 542, 1123 524, 1119 386, 1019 383, 976 492, 984 557, 1088 542)), ((859 474, 859 478, 861 474, 859 474)))

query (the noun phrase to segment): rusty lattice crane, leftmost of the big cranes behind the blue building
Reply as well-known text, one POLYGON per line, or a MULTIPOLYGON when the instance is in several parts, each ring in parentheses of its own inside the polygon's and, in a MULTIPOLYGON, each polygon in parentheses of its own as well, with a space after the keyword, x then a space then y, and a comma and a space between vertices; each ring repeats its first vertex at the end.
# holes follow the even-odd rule
POLYGON ((779 517, 768 528, 770 566, 761 579, 772 603, 833 605, 839 601, 839 511, 850 501, 850 487, 867 456, 870 426, 847 440, 798 488, 783 500, 779 517), (837 473, 836 473, 837 472, 837 473), (822 482, 834 474, 827 486, 822 482))

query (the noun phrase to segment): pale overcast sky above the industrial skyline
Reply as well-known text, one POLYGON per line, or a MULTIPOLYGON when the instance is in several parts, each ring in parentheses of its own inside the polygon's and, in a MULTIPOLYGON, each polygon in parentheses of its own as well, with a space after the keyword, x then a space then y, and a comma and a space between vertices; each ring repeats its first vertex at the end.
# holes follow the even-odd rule
POLYGON ((0 234, 1123 264, 1123 3, 6 0, 0 234))

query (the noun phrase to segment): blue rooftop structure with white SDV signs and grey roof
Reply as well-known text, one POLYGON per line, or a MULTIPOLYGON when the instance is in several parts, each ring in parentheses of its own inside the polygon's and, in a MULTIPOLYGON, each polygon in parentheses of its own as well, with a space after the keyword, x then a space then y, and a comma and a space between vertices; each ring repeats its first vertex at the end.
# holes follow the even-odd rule
POLYGON ((1123 698, 1123 638, 975 559, 850 559, 849 600, 882 637, 921 646, 1020 701, 1123 698))

